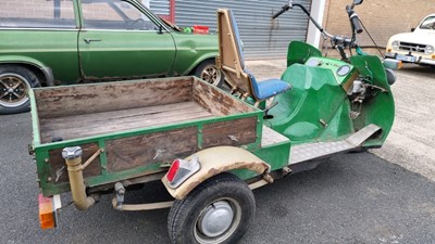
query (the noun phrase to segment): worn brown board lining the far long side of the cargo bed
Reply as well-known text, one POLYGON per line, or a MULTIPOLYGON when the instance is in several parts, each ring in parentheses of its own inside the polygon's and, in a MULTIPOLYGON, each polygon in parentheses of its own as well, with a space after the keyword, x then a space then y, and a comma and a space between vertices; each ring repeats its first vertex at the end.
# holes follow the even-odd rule
POLYGON ((35 89, 40 118, 191 101, 191 77, 35 89))

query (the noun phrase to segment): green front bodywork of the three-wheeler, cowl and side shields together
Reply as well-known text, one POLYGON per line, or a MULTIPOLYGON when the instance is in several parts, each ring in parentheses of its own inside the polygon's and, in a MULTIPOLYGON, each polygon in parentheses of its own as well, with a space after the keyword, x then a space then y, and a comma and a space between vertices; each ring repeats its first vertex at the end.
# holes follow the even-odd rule
POLYGON ((347 63, 321 57, 319 53, 306 43, 289 44, 289 66, 281 79, 289 82, 293 90, 275 98, 278 105, 271 112, 274 118, 265 124, 288 137, 293 144, 333 141, 375 124, 383 128, 382 134, 366 141, 364 146, 381 146, 391 129, 395 114, 393 93, 381 60, 373 55, 356 55, 347 63), (347 66, 347 74, 338 74, 343 66, 347 66), (385 91, 368 91, 361 107, 355 107, 345 88, 356 78, 385 91), (352 110, 360 112, 355 119, 350 117, 352 110))

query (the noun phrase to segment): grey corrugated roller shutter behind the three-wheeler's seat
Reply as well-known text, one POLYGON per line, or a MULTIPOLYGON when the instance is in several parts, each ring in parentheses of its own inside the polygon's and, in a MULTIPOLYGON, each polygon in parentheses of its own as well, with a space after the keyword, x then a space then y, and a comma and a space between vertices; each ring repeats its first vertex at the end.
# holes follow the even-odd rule
MULTIPOLYGON (((244 52, 248 59, 277 57, 287 54, 290 40, 304 41, 308 17, 295 8, 272 21, 273 13, 287 1, 275 0, 176 0, 175 23, 179 26, 207 25, 216 30, 216 9, 232 9, 237 20, 244 52)), ((299 0, 307 9, 311 0, 299 0)))

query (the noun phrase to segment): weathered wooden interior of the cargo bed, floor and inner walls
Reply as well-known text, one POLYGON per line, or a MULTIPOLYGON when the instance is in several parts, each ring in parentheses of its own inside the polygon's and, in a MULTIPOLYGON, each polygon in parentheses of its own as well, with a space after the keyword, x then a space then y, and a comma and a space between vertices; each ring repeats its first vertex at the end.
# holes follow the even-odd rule
POLYGON ((197 79, 158 79, 36 90, 41 143, 252 112, 197 79))

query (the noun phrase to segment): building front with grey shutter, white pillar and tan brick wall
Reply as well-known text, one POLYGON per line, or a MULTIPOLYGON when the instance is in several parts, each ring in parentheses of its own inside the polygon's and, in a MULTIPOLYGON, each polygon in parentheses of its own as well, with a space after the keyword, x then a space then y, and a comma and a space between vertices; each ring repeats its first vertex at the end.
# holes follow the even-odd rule
MULTIPOLYGON (((276 21, 271 16, 287 1, 278 0, 144 0, 150 8, 181 26, 207 25, 215 30, 215 10, 233 9, 248 59, 282 57, 290 40, 302 40, 323 46, 322 37, 299 10, 290 10, 276 21)), ((351 0, 294 0, 312 12, 328 33, 350 36, 350 24, 345 8, 351 0)), ((427 0, 365 0, 356 8, 362 23, 384 51, 388 38, 410 31, 426 15, 435 13, 427 0)), ((358 37, 359 43, 370 50, 374 44, 369 35, 358 37)))

